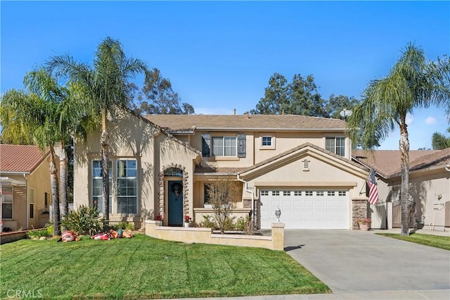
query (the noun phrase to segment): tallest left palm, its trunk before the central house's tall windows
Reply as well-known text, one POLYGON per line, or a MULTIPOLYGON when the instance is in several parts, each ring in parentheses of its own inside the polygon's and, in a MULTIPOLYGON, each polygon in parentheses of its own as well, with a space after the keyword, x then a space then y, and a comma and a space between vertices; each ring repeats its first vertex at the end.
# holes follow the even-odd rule
POLYGON ((120 42, 110 37, 98 45, 93 67, 78 63, 71 56, 55 56, 49 61, 48 68, 55 70, 58 75, 68 75, 70 82, 82 85, 89 98, 88 111, 91 115, 101 116, 102 213, 103 218, 108 220, 108 113, 113 115, 118 106, 129 104, 129 79, 139 73, 147 74, 148 68, 139 59, 126 58, 120 42))

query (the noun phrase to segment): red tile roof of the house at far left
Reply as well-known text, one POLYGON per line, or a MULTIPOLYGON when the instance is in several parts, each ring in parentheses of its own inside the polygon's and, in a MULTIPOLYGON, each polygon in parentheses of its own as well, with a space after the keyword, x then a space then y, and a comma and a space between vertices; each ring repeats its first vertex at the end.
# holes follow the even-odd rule
POLYGON ((0 172, 32 173, 46 156, 37 146, 0 144, 0 172))

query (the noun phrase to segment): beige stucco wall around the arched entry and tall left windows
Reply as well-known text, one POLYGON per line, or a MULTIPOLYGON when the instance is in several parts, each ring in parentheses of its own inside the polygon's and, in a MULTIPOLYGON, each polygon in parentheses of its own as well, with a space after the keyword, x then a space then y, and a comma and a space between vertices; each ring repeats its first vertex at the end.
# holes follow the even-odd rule
MULTIPOLYGON (((167 165, 184 165, 189 177, 189 191, 193 191, 193 160, 195 154, 183 144, 174 141, 158 128, 141 120, 127 111, 117 112, 113 122, 108 123, 110 132, 110 159, 135 158, 138 169, 138 213, 136 215, 117 214, 117 202, 113 196, 111 221, 134 222, 137 227, 143 220, 154 219, 159 213, 159 173, 167 165)), ((91 161, 101 159, 101 131, 91 132, 83 142, 78 140, 75 146, 74 166, 74 203, 89 205, 91 199, 91 161)), ((115 175, 115 165, 113 165, 115 175)), ((115 182, 110 187, 114 195, 115 182)), ((193 201, 189 193, 189 201, 193 201)), ((192 206, 192 205, 191 205, 192 206)))

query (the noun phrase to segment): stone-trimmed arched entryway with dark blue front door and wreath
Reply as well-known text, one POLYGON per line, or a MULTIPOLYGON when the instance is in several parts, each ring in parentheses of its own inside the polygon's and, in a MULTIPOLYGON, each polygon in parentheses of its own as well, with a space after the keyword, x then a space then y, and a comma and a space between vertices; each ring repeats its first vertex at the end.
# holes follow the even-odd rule
POLYGON ((188 214, 188 173, 182 165, 167 165, 160 172, 160 214, 164 225, 183 225, 188 214))

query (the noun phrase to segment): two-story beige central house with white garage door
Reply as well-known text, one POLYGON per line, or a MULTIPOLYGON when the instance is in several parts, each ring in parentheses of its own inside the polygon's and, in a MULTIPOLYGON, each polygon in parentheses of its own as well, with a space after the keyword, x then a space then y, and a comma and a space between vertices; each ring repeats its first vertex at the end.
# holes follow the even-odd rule
MULTIPOLYGON (((259 227, 354 227, 366 212, 368 169, 352 161, 342 120, 302 115, 147 115, 124 109, 110 122, 110 220, 137 227, 200 223, 213 214, 205 183, 242 189, 234 214, 259 227), (362 192, 361 192, 362 191, 362 192)), ((100 130, 75 146, 75 206, 101 208, 100 130)))

